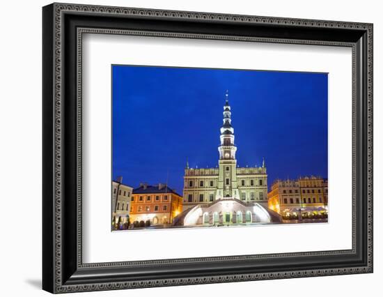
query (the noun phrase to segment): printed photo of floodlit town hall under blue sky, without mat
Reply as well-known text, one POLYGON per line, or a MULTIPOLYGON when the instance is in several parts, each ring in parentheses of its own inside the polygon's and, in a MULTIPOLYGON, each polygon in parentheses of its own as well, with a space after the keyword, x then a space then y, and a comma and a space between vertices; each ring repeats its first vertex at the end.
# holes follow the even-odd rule
POLYGON ((326 223, 327 73, 111 66, 111 230, 326 223))

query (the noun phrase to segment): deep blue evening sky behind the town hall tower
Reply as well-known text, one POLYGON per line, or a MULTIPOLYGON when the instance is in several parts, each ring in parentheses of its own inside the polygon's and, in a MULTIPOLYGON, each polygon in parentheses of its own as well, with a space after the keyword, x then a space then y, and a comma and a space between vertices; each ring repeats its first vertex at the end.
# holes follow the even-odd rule
POLYGON ((327 177, 327 74, 112 66, 113 178, 182 195, 190 167, 216 167, 225 91, 237 165, 276 178, 327 177))

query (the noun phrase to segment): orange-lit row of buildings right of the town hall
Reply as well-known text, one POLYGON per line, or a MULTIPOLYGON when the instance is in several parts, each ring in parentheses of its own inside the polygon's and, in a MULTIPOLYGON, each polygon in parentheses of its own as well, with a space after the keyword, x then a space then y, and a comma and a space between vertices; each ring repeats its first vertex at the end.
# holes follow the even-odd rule
POLYGON ((281 215, 327 211, 327 179, 305 176, 275 181, 267 194, 269 208, 281 215))

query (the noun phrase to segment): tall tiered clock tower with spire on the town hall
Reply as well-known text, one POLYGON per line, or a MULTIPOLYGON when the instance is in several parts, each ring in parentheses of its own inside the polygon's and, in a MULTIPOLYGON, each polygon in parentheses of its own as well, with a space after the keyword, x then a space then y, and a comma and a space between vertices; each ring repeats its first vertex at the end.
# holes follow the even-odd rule
POLYGON ((221 127, 221 144, 218 146, 219 178, 216 199, 240 199, 237 188, 237 160, 235 159, 237 146, 234 143, 234 128, 231 125, 231 108, 228 103, 227 90, 225 97, 224 123, 221 127))

